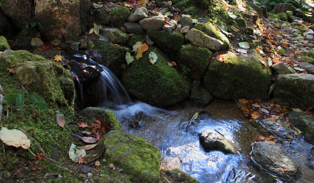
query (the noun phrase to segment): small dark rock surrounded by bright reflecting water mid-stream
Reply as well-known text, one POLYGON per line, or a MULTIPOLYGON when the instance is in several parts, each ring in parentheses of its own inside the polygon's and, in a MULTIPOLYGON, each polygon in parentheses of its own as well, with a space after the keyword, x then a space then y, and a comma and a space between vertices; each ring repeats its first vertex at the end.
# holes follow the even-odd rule
POLYGON ((236 150, 232 147, 228 140, 217 131, 206 130, 200 134, 199 140, 202 146, 208 151, 218 149, 219 151, 227 154, 236 154, 236 150))

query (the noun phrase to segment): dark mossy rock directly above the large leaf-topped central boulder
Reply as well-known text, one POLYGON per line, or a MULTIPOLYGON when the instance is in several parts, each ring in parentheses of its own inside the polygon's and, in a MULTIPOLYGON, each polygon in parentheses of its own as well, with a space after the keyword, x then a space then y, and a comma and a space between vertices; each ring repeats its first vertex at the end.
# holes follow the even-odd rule
POLYGON ((176 54, 184 45, 184 37, 179 31, 147 31, 147 34, 158 48, 168 54, 171 59, 176 58, 176 54))

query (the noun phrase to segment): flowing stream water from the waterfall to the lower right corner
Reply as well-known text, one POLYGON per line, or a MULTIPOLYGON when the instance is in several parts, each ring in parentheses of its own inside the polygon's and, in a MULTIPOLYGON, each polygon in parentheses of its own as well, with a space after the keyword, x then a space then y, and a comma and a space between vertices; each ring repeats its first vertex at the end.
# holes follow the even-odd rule
MULTIPOLYGON (((122 124, 123 132, 142 137, 156 146, 162 155, 162 169, 179 168, 201 183, 314 182, 314 148, 302 137, 295 137, 291 145, 281 144, 299 165, 298 175, 291 180, 274 178, 255 166, 250 156, 254 140, 258 136, 270 135, 269 132, 258 129, 256 123, 252 125, 235 103, 214 100, 204 107, 185 100, 168 108, 158 108, 140 101, 132 103, 120 81, 106 66, 96 64, 88 56, 75 57, 79 58, 75 59, 76 63, 84 62, 100 69, 100 80, 105 91, 98 105, 111 107, 122 124), (141 127, 131 128, 130 119, 139 112, 143 112, 141 127), (198 118, 189 123, 189 117, 195 112, 199 112, 198 118), (199 134, 207 129, 223 134, 238 153, 205 151, 199 143, 199 134)), ((80 98, 84 89, 78 80, 77 83, 80 98)))

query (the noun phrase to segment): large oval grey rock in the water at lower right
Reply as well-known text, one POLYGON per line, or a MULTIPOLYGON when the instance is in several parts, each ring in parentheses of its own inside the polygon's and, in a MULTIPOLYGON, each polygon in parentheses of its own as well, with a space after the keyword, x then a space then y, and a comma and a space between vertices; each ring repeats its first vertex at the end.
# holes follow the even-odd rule
POLYGON ((296 175, 298 165, 287 152, 276 144, 256 142, 251 154, 257 164, 273 174, 286 178, 292 178, 296 175))

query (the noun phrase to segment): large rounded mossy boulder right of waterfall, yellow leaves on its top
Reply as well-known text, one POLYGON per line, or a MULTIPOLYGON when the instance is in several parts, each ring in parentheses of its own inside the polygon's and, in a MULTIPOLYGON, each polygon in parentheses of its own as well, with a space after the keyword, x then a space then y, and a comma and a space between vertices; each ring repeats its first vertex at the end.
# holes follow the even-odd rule
POLYGON ((168 57, 158 48, 150 46, 138 61, 133 61, 122 72, 122 83, 128 93, 154 106, 168 106, 185 99, 191 82, 181 76, 174 67, 169 67, 168 57), (158 59, 154 66, 149 62, 149 53, 158 59))

